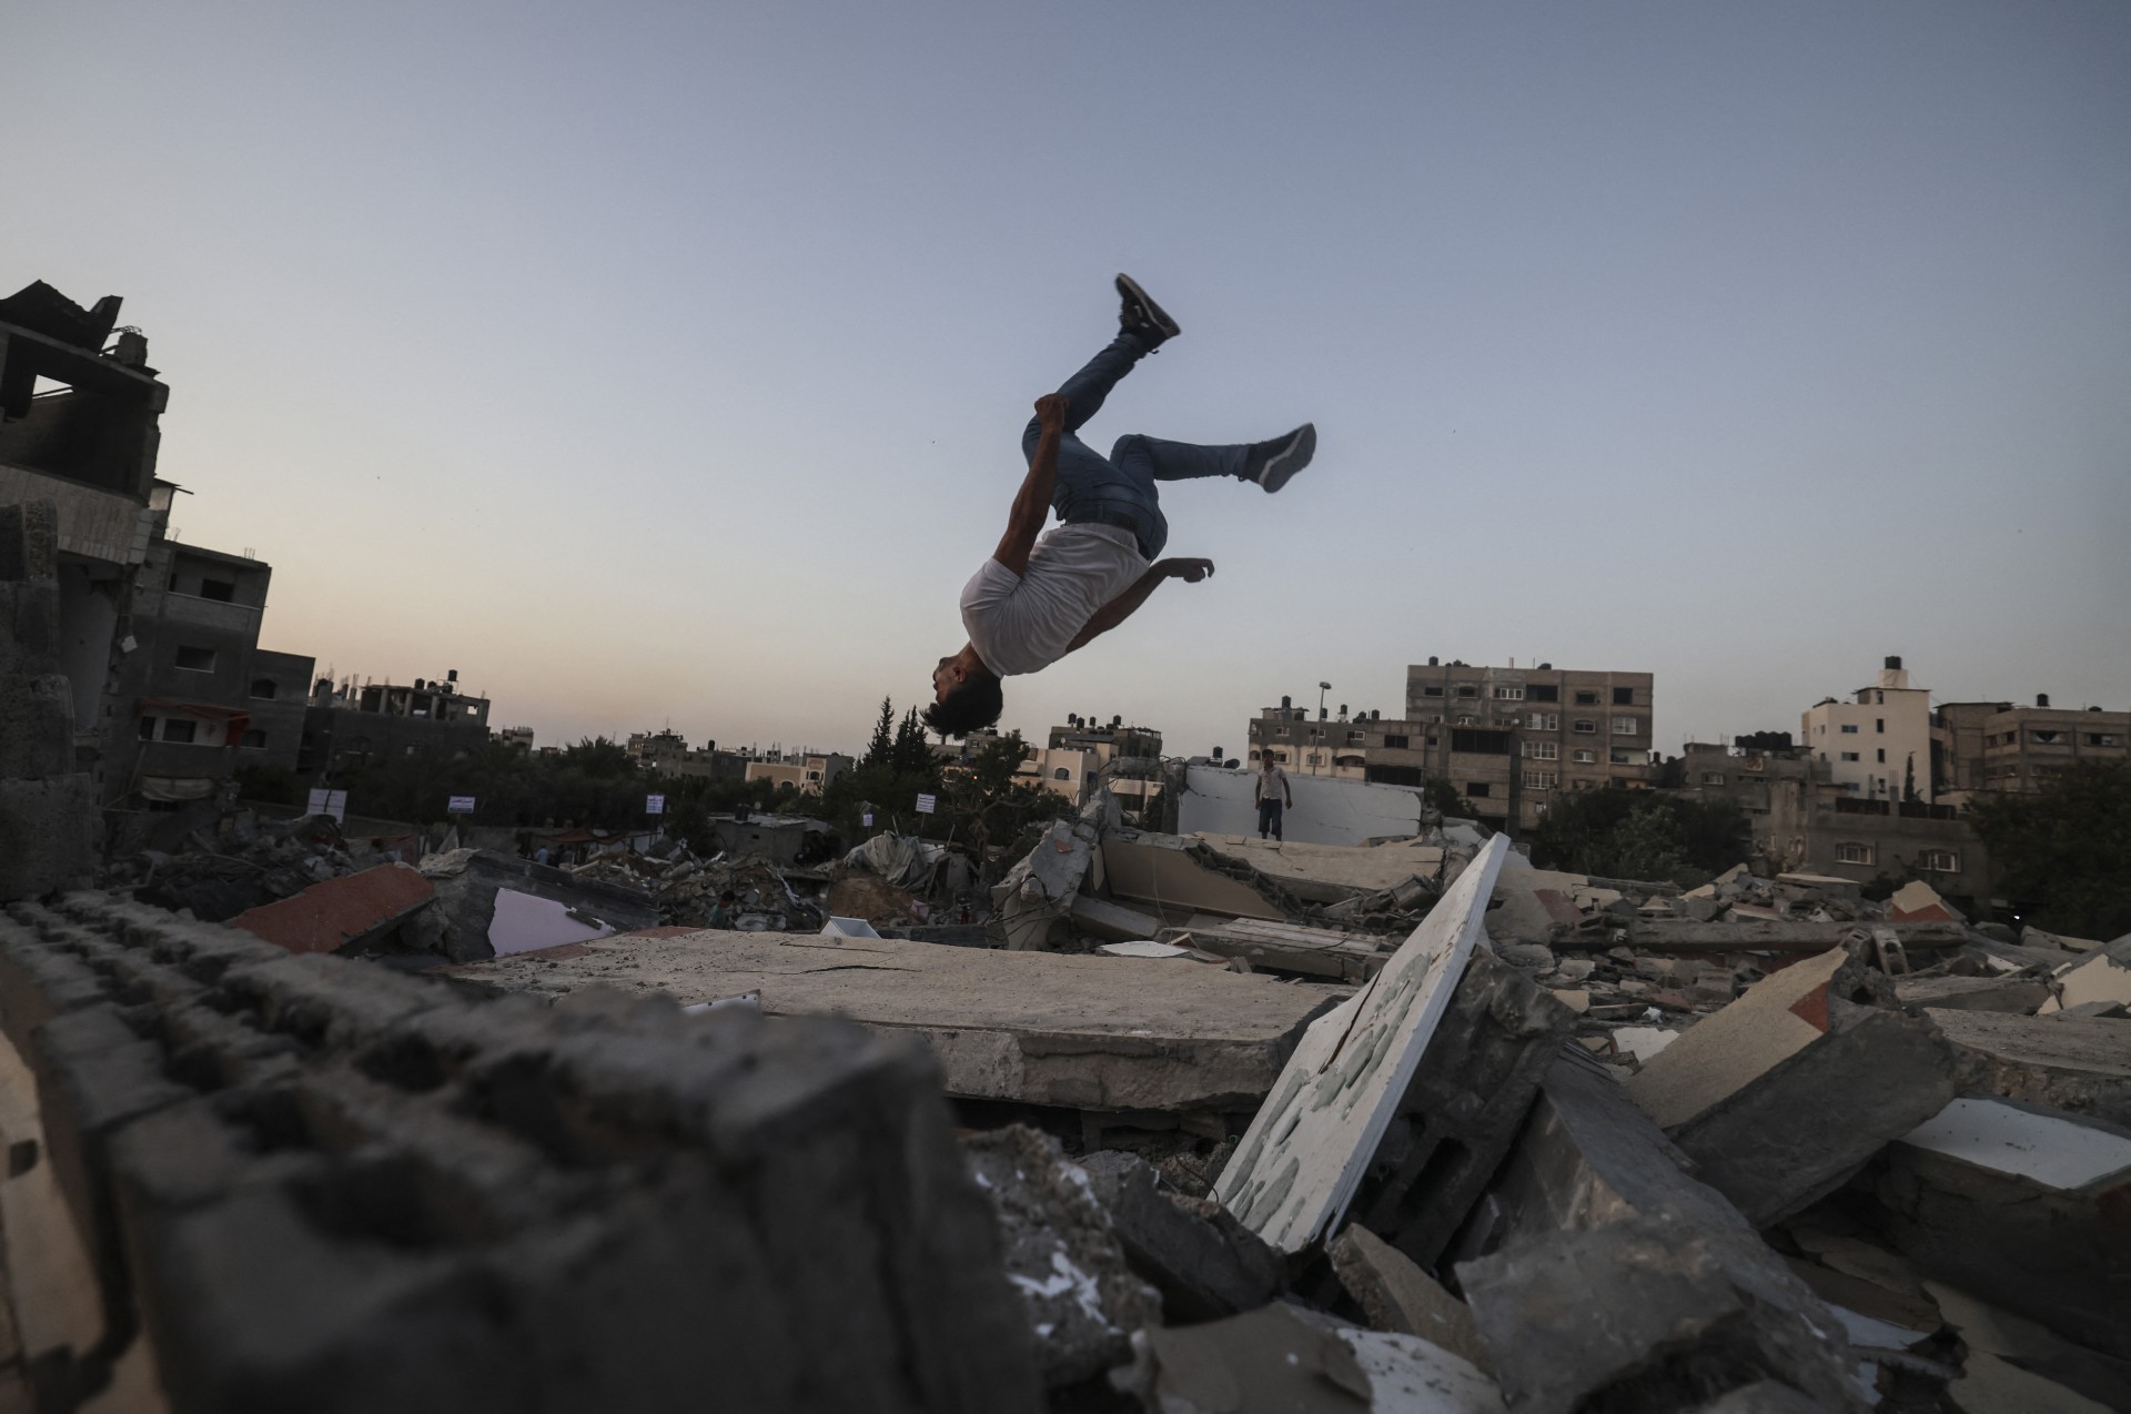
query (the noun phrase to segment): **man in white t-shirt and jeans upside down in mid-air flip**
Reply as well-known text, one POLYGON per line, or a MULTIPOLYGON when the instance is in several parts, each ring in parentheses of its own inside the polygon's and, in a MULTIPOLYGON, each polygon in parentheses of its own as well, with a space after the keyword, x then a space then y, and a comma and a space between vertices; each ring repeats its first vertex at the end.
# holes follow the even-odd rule
POLYGON ((1080 373, 1036 400, 1021 434, 1029 473, 1014 494, 999 547, 961 592, 970 641, 933 669, 925 724, 967 737, 999 720, 999 679, 1040 673, 1123 624, 1164 579, 1198 583, 1213 560, 1159 560, 1170 539, 1159 481, 1234 477, 1266 492, 1311 464, 1317 428, 1304 422, 1262 443, 1206 447, 1119 437, 1110 456, 1078 439, 1117 381, 1181 330, 1129 277, 1117 277, 1117 339, 1080 373), (1051 511, 1059 524, 1042 541, 1051 511))

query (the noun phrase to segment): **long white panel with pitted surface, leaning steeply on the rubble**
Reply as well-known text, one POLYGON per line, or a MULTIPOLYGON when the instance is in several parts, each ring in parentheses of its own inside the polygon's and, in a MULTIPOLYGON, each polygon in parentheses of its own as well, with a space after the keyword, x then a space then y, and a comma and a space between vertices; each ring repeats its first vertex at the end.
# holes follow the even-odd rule
POLYGON ((1353 1201, 1464 977, 1509 839, 1496 835, 1366 988, 1302 1033, 1215 1197, 1283 1252, 1353 1201))

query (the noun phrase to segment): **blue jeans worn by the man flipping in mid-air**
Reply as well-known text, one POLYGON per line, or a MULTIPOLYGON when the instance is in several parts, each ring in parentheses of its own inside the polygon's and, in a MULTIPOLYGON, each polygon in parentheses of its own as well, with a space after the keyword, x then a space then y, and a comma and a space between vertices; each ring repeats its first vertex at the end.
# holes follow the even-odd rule
MULTIPOLYGON (((1117 381, 1132 373, 1132 364, 1146 358, 1146 349, 1132 334, 1119 334, 1095 358, 1087 360, 1080 373, 1059 385, 1066 394, 1066 437, 1059 439, 1059 481, 1051 496, 1051 509, 1061 524, 1104 524, 1132 530, 1140 539, 1140 554, 1149 560, 1161 556, 1170 543, 1170 522, 1161 515, 1161 494, 1155 481, 1193 481, 1198 477, 1242 477, 1247 443, 1234 447, 1202 447, 1198 443, 1172 443, 1159 437, 1119 437, 1110 456, 1097 454, 1076 432, 1102 409, 1117 381)), ((1021 456, 1034 458, 1042 426, 1029 417, 1029 428, 1021 434, 1021 456)))

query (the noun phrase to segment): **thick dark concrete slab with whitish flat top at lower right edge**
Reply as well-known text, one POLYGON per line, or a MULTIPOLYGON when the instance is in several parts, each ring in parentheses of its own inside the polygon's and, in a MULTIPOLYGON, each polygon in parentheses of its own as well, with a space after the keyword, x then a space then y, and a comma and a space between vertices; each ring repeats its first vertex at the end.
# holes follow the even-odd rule
POLYGON ((1961 1097, 1888 1146, 1873 1197, 1924 1276, 2131 1359, 2131 1131, 1961 1097))

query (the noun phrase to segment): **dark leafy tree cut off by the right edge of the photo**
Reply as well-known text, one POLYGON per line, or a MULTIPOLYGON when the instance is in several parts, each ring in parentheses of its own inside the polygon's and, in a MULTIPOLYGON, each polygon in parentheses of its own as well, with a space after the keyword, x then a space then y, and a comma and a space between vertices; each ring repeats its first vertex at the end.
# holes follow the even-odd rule
POLYGON ((2080 762, 2031 794, 1971 807, 1997 888, 2037 928, 2131 933, 2131 762, 2080 762))

